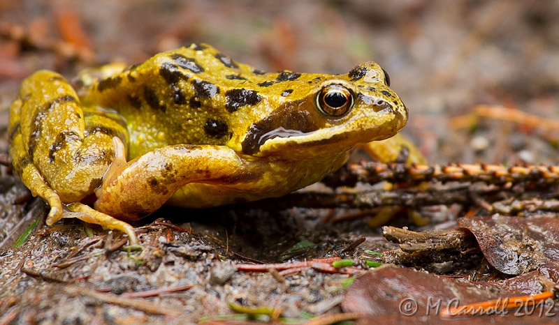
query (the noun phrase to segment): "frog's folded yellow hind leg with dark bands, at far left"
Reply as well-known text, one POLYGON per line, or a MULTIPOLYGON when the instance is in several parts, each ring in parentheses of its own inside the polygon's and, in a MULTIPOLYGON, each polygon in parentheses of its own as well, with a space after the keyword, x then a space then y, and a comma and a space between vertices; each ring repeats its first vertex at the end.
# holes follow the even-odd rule
MULTIPOLYGON (((10 156, 23 183, 50 205, 47 225, 63 217, 63 204, 79 212, 66 212, 66 216, 91 219, 79 202, 101 185, 115 156, 115 135, 126 141, 126 130, 119 123, 103 114, 84 112, 77 94, 61 75, 42 70, 24 80, 10 107, 10 156)), ((120 229, 136 243, 126 222, 96 223, 120 229)))

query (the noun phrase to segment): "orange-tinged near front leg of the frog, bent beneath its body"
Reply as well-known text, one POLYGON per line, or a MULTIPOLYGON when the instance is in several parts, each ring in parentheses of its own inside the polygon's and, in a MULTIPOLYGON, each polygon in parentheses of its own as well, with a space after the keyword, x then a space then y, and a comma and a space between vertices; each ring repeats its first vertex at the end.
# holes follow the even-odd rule
MULTIPOLYGON (((148 151, 119 167, 111 166, 96 190, 95 209, 121 220, 137 220, 159 209, 188 183, 234 186, 257 174, 227 146, 176 144, 148 151)), ((118 164, 115 164, 117 166, 118 164)))

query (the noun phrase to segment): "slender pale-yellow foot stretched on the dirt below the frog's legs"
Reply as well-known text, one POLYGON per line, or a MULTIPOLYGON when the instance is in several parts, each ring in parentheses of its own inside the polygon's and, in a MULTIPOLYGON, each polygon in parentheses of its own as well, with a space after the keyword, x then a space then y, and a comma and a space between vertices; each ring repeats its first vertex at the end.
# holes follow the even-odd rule
POLYGON ((78 218, 88 223, 95 223, 109 229, 116 229, 128 235, 130 245, 138 245, 138 237, 134 228, 128 223, 109 216, 108 214, 96 211, 91 207, 80 202, 66 204, 69 210, 62 213, 61 218, 78 218))

